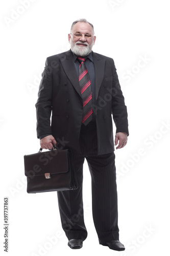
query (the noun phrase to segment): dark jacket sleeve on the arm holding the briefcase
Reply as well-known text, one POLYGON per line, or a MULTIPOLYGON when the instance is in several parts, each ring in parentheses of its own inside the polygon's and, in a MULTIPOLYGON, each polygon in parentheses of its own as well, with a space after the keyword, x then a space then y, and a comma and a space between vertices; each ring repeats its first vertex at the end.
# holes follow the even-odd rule
POLYGON ((37 115, 37 138, 40 138, 40 136, 45 134, 51 134, 52 92, 52 67, 48 65, 47 58, 39 86, 38 100, 35 104, 37 115))

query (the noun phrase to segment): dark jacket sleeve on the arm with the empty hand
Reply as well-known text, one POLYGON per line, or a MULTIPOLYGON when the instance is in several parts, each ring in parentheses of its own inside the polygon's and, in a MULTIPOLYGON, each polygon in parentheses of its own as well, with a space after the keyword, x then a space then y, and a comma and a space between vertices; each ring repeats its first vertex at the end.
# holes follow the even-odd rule
POLYGON ((113 68, 112 86, 112 115, 116 125, 116 133, 125 132, 129 135, 127 106, 125 105, 125 99, 120 88, 115 66, 113 68))

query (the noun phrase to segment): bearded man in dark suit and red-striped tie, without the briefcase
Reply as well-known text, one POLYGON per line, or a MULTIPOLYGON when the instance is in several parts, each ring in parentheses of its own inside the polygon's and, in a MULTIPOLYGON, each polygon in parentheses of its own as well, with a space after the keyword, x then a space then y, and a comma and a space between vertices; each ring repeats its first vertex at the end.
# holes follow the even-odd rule
POLYGON ((37 136, 42 148, 71 148, 74 156, 78 189, 58 192, 68 246, 80 249, 87 238, 82 201, 86 158, 99 243, 120 251, 125 247, 117 225, 112 116, 116 148, 123 148, 129 134, 127 108, 113 59, 92 52, 95 39, 93 25, 76 20, 68 34, 71 49, 46 59, 36 103, 37 136))

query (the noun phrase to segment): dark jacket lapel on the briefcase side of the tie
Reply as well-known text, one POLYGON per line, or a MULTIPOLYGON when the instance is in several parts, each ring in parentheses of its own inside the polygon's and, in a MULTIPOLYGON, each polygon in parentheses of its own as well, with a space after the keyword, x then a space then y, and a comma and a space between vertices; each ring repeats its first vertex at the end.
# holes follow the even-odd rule
POLYGON ((82 98, 81 91, 80 91, 79 79, 78 79, 75 62, 74 62, 74 58, 73 58, 71 50, 67 51, 66 57, 63 58, 63 56, 62 56, 60 58, 60 60, 61 60, 61 65, 63 66, 63 69, 64 69, 68 79, 72 83, 72 86, 75 88, 75 90, 78 92, 78 94, 82 98))

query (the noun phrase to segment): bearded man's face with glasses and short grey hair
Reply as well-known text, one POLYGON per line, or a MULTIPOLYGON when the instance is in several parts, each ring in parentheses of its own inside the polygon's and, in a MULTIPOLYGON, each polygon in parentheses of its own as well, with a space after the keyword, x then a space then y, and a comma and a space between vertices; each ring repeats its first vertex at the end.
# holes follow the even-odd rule
MULTIPOLYGON (((78 22, 74 25, 71 31, 72 34, 93 34, 93 30, 88 23, 78 22)), ((90 38, 86 38, 84 35, 82 37, 77 38, 76 36, 68 34, 68 41, 71 46, 71 51, 74 52, 78 56, 87 56, 95 43, 95 36, 91 36, 90 38)))

